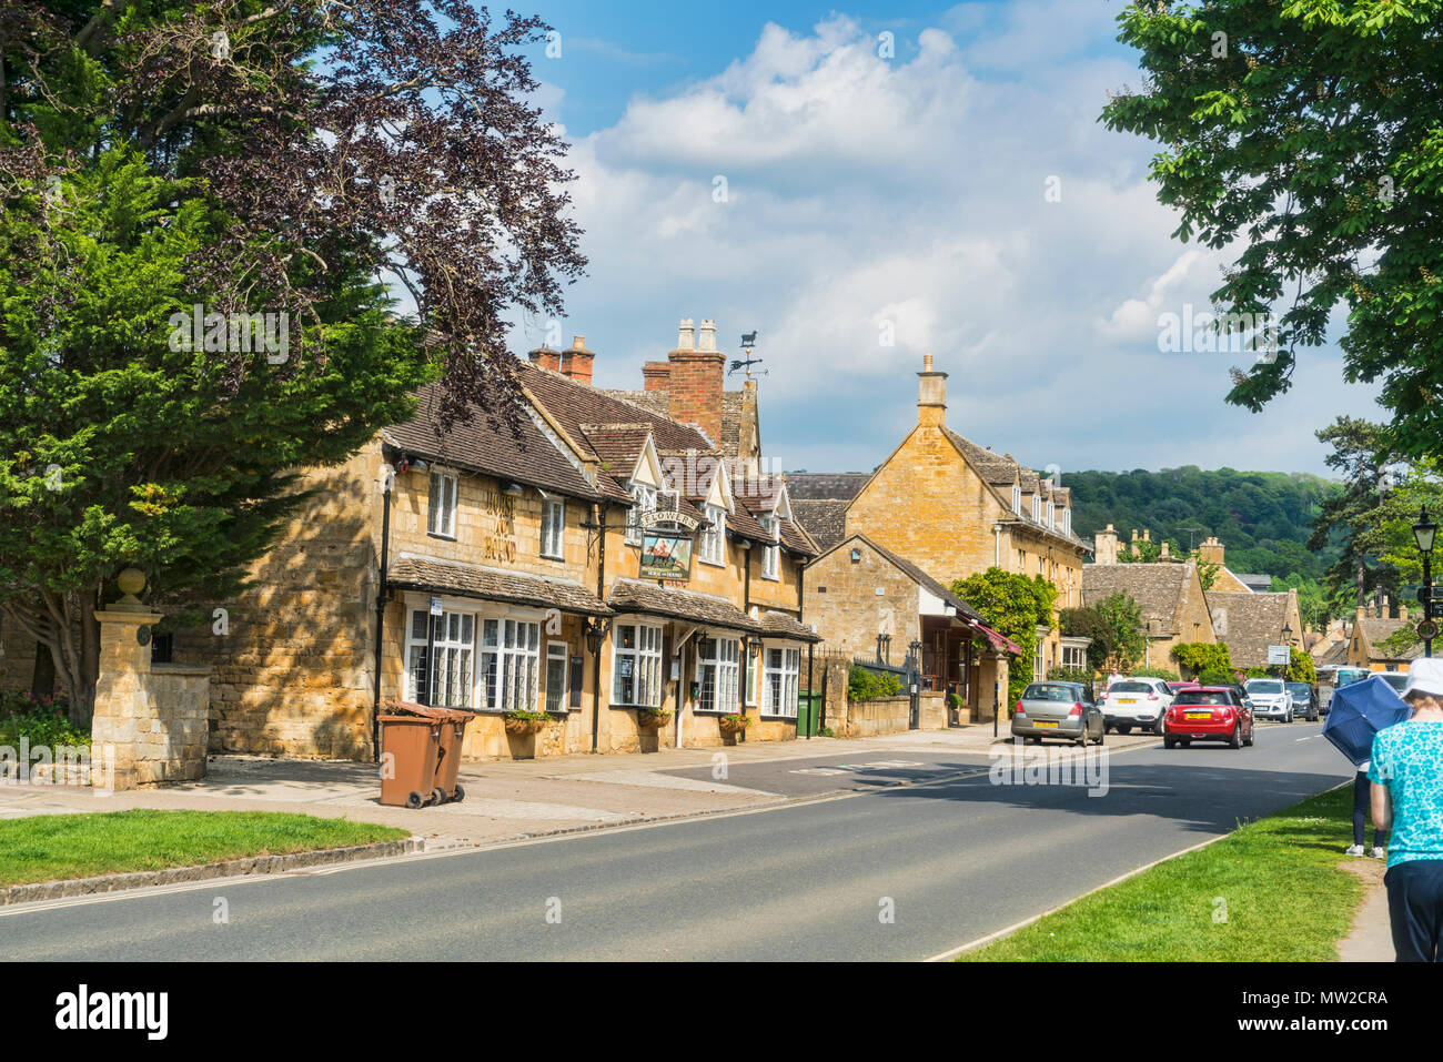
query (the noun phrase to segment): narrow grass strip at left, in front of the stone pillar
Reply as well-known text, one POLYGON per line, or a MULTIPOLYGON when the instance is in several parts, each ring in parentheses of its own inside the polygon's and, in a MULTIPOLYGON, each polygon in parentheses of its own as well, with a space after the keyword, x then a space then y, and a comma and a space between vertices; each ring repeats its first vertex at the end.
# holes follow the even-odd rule
POLYGON ((407 837, 343 818, 263 811, 110 811, 0 821, 0 887, 284 856, 407 837))

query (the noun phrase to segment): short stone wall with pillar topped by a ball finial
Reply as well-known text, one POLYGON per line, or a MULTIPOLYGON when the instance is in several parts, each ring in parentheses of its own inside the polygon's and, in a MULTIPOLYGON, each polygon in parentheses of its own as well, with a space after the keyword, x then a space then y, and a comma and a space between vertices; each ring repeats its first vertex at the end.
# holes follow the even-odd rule
POLYGON ((101 612, 101 667, 91 723, 94 782, 134 789, 205 776, 211 736, 211 668, 150 664, 146 612, 101 612), (114 775, 108 776, 114 750, 114 775))

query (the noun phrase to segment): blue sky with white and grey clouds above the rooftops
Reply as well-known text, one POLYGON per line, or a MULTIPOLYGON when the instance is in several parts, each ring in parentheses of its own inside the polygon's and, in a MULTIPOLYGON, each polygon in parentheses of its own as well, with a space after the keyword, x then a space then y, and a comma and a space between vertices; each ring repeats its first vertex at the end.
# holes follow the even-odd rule
POLYGON ((541 0, 561 55, 534 56, 538 102, 573 144, 590 257, 563 342, 639 387, 680 317, 729 352, 758 329, 782 468, 883 460, 929 351, 948 424, 1038 468, 1326 472, 1313 430, 1382 416, 1335 346, 1255 416, 1222 401, 1251 355, 1159 351, 1159 317, 1205 310, 1229 255, 1173 241, 1152 146, 1097 123, 1140 81, 1120 9, 541 0))

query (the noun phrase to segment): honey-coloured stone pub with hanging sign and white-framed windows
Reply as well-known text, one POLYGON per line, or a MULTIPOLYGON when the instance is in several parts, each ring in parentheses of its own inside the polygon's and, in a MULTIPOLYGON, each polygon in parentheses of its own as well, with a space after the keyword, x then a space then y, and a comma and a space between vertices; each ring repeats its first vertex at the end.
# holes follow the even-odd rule
POLYGON ((642 391, 593 387, 595 356, 531 352, 517 429, 443 430, 430 387, 303 473, 225 632, 169 641, 212 667, 212 753, 371 759, 391 700, 473 710, 472 760, 797 736, 818 548, 762 470, 755 381, 724 388, 711 322, 683 320, 642 391))

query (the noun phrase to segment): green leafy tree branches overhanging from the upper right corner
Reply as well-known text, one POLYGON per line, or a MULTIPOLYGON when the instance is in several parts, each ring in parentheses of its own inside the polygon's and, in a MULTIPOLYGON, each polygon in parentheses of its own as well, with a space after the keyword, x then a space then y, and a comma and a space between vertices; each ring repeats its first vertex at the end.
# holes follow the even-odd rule
POLYGON ((1118 14, 1139 91, 1102 110, 1160 144, 1157 199, 1182 241, 1241 251, 1212 293, 1224 330, 1278 310, 1276 354, 1228 400, 1284 392, 1299 346, 1341 339, 1349 381, 1382 381, 1404 453, 1443 437, 1443 0, 1137 0, 1118 14))

